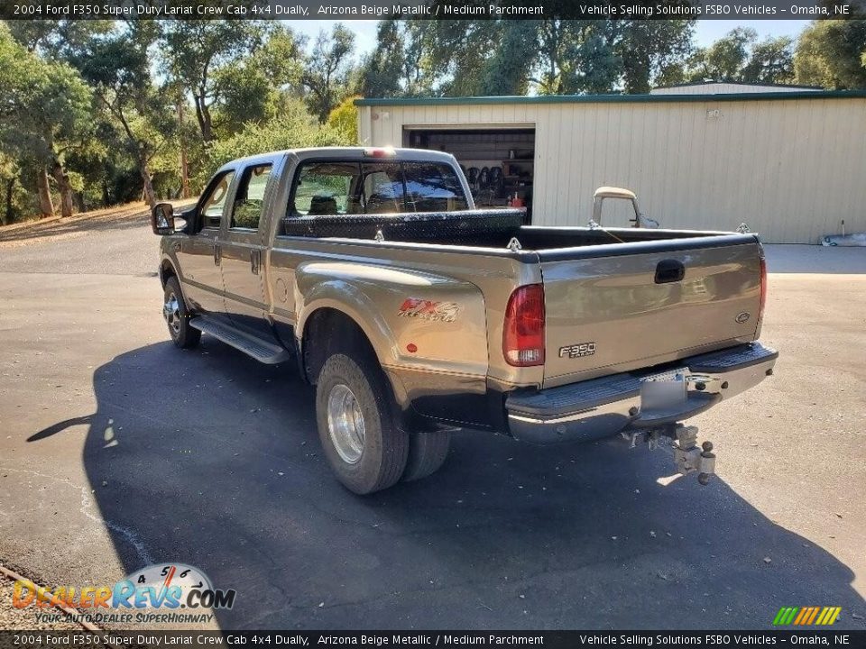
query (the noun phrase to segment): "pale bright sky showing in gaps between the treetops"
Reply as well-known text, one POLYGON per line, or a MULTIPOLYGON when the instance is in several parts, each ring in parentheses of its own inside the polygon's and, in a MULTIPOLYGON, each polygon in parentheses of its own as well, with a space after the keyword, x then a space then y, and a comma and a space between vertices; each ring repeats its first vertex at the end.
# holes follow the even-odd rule
MULTIPOLYGON (((319 30, 329 31, 336 21, 286 21, 292 29, 307 34, 312 40, 319 30)), ((376 25, 379 21, 339 21, 355 32, 355 47, 358 54, 365 54, 376 46, 376 25)), ((758 32, 759 39, 767 36, 797 36, 810 21, 804 20, 699 20, 695 28, 695 42, 705 47, 730 32, 734 27, 751 27, 758 32)))

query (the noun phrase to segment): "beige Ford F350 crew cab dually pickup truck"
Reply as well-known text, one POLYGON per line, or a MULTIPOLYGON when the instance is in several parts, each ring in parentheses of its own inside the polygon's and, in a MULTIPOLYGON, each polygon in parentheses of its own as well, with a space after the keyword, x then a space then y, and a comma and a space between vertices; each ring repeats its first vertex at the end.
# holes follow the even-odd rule
POLYGON ((476 210, 438 151, 234 160, 177 224, 170 204, 152 210, 162 312, 180 348, 204 332, 297 363, 327 460, 355 493, 438 470, 460 429, 669 440, 677 469, 705 483, 712 444, 682 422, 778 356, 758 342, 760 240, 605 228, 597 212, 588 227, 541 227, 476 210))

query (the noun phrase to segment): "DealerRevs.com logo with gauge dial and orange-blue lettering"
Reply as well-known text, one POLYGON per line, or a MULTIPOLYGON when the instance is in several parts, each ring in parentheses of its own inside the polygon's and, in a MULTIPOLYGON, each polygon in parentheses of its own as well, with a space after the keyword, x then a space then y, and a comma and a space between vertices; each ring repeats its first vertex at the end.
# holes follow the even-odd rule
POLYGON ((65 606, 76 608, 88 619, 101 621, 132 621, 124 615, 119 620, 112 616, 92 614, 114 609, 134 612, 141 609, 161 609, 172 615, 142 614, 135 621, 184 622, 206 621, 213 617, 203 609, 232 608, 235 590, 216 589, 207 575, 185 563, 153 564, 130 573, 112 586, 59 586, 47 589, 29 580, 15 581, 12 603, 14 608, 50 608, 65 606), (177 614, 179 609, 188 613, 177 614))

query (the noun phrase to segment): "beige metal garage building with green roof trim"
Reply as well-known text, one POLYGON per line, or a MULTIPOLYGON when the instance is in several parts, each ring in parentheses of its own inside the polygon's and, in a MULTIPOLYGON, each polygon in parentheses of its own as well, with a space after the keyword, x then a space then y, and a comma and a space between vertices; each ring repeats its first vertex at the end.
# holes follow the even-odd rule
MULTIPOLYGON (((866 231, 866 92, 359 99, 364 146, 453 153, 476 202, 584 225, 603 185, 662 227, 816 243, 866 231), (518 199, 515 202, 515 197, 518 199)), ((627 225, 622 201, 603 224, 627 225)))

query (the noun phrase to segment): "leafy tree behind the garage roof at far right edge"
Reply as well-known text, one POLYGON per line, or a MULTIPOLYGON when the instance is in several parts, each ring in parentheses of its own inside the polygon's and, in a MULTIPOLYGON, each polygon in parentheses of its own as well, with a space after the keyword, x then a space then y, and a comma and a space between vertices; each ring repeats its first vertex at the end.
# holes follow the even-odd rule
POLYGON ((815 21, 800 34, 797 83, 837 90, 866 88, 866 17, 815 21))

